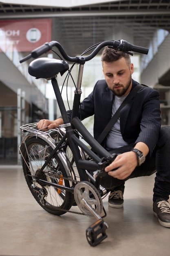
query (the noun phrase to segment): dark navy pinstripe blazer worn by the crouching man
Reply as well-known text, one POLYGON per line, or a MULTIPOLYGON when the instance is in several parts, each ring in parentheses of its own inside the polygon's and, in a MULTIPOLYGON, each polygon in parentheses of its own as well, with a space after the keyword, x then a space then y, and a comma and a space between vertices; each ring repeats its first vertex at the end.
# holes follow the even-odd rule
MULTIPOLYGON (((132 80, 132 89, 138 83, 132 80)), ((94 115, 94 137, 97 139, 112 115, 114 94, 105 80, 95 84, 93 92, 81 103, 81 119, 94 115)), ((120 111, 121 135, 128 144, 144 142, 155 148, 161 127, 159 93, 150 88, 141 88, 135 97, 120 111)))

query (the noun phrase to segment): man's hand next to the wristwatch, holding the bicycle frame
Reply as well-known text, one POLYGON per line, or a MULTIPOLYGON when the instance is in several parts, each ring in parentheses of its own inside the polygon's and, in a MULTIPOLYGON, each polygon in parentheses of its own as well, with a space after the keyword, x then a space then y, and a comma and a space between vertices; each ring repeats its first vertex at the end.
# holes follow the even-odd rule
POLYGON ((108 175, 119 180, 125 180, 137 167, 138 161, 135 152, 129 151, 118 155, 115 160, 105 168, 108 175), (112 171, 113 169, 116 169, 112 171))

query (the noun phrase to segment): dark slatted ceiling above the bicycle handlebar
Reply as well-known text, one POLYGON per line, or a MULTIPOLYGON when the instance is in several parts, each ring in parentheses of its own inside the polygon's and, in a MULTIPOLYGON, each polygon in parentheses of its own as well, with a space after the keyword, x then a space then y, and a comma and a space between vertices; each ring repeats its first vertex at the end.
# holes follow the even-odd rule
POLYGON ((122 0, 72 8, 0 2, 0 19, 15 18, 51 18, 52 40, 75 56, 106 40, 106 31, 112 34, 113 27, 121 26, 132 31, 133 44, 148 47, 156 29, 170 32, 170 1, 122 0))

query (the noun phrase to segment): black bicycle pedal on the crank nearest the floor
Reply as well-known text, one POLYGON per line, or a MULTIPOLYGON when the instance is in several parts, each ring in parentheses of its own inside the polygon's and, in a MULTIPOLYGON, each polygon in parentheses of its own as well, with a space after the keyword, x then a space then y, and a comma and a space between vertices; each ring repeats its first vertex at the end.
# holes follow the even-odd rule
POLYGON ((108 236, 106 235, 107 226, 104 220, 100 219, 86 229, 86 238, 91 246, 96 246, 108 236))

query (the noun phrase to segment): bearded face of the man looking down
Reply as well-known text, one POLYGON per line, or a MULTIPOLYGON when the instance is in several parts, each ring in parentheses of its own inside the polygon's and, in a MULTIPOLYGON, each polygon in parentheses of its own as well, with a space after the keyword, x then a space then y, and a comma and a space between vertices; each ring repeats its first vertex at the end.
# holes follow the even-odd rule
POLYGON ((108 88, 117 96, 127 95, 132 88, 133 64, 127 65, 125 58, 104 62, 103 72, 108 88))

